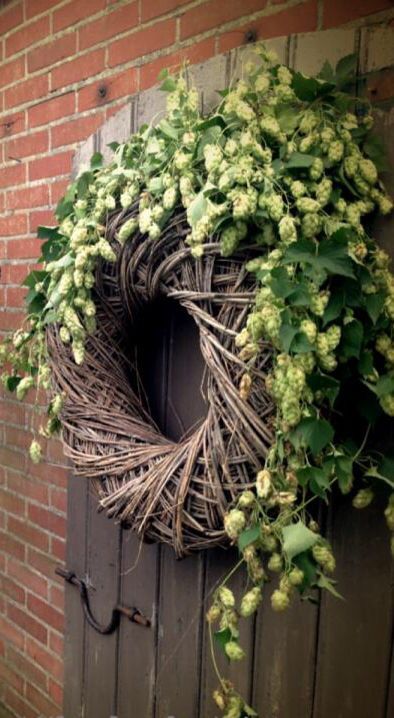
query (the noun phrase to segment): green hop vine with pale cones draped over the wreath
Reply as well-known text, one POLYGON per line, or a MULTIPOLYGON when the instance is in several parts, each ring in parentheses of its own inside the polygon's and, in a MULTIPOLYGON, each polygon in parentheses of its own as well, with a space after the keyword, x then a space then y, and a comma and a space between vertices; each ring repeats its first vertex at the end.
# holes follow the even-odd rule
MULTIPOLYGON (((166 117, 113 144, 109 166, 94 155, 60 201, 59 225, 39 229, 43 268, 24 282, 26 328, 1 347, 2 381, 18 399, 50 388, 48 325, 59 325, 61 341, 83 363, 86 337, 96 327, 95 269, 101 259, 116 259, 106 221, 119 207, 138 207, 117 233, 122 245, 136 231, 158 239, 183 210, 196 262, 212 235, 225 257, 245 240, 256 250, 247 263, 258 284, 255 305, 237 346, 246 367, 263 342, 272 346, 267 387, 276 404, 276 440, 254 490, 244 491, 225 517, 240 554, 234 570, 245 566, 250 585, 237 607, 223 582, 207 620, 212 649, 216 625, 215 640, 231 661, 244 657, 239 620, 258 609, 270 573, 279 574, 275 611, 314 587, 338 595, 330 578, 335 558, 310 514, 313 502, 328 502, 334 485, 344 494, 354 485, 352 504, 361 509, 380 485, 393 488, 394 460, 374 448, 371 436, 382 416, 394 416, 394 278, 368 225, 376 212, 389 214, 392 202, 378 177, 382 151, 368 103, 347 92, 354 75, 353 57, 335 71, 326 63, 309 78, 258 46, 243 79, 219 93, 219 106, 202 117, 197 91, 183 75, 164 73, 166 117)), ((251 384, 246 370, 243 399, 251 384)), ((39 434, 61 429, 65 400, 52 398, 39 434)), ((41 459, 39 436, 30 456, 41 459)), ((393 539, 394 494, 385 517, 393 539)), ((219 681, 214 699, 225 718, 257 715, 220 675, 219 681)))

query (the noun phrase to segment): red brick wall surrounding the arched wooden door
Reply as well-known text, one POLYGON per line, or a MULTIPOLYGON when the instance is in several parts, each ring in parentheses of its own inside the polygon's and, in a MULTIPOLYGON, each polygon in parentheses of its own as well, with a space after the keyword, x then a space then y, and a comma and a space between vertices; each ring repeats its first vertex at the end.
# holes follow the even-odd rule
MULTIPOLYGON (((0 335, 22 317, 37 225, 73 153, 163 66, 259 38, 363 22, 390 0, 0 0, 0 335), (105 88, 102 97, 100 89, 105 88)), ((380 17, 380 15, 379 15, 380 17)), ((32 403, 0 400, 0 713, 57 716, 62 701, 67 469, 58 443, 28 460, 32 403)), ((89 717, 90 718, 90 717, 89 717)))

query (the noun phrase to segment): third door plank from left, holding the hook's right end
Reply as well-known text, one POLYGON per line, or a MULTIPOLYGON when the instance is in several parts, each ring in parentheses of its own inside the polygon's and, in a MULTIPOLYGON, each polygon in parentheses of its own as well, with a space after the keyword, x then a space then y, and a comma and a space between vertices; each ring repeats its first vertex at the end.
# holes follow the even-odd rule
POLYGON ((130 531, 123 532, 121 602, 138 608, 152 625, 144 628, 122 619, 118 657, 118 718, 153 718, 159 560, 157 545, 141 544, 130 531))

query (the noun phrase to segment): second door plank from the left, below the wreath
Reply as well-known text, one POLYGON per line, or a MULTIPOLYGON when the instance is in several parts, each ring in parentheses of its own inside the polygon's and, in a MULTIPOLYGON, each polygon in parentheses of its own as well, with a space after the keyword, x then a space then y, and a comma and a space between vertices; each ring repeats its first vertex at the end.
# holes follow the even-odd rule
MULTIPOLYGON (((108 623, 119 600, 120 528, 97 513, 97 498, 89 496, 88 573, 93 615, 108 623)), ((116 710, 118 631, 100 635, 86 626, 85 716, 109 718, 116 710)))

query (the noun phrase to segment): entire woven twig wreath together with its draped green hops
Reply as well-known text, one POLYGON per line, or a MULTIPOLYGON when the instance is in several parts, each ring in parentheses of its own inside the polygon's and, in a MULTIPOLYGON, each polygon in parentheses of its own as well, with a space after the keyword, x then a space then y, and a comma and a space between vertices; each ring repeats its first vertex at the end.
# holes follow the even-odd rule
MULTIPOLYGON (((178 556, 237 544, 248 590, 236 603, 227 577, 207 615, 234 661, 272 573, 276 611, 315 587, 338 595, 316 499, 338 487, 361 509, 393 488, 376 435, 394 416, 394 279, 370 221, 392 202, 355 73, 349 56, 308 78, 258 46, 208 117, 185 75, 164 73, 166 116, 113 144, 109 166, 95 154, 59 225, 39 229, 26 326, 1 348, 19 399, 53 387, 32 461, 62 428, 77 474, 140 535, 178 556), (130 351, 158 297, 196 322, 206 365, 207 416, 178 443, 130 351)), ((393 493, 385 517, 393 536, 393 493)), ((256 715, 218 678, 226 718, 256 715)))

